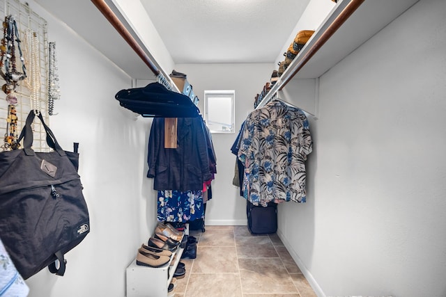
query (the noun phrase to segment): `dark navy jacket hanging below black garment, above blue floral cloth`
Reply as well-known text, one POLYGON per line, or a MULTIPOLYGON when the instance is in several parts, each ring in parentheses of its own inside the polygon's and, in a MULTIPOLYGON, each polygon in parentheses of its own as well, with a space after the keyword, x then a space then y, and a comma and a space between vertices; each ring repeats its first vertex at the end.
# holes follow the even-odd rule
POLYGON ((155 190, 200 191, 213 179, 201 118, 178 118, 176 148, 164 148, 164 119, 154 118, 148 141, 148 172, 155 190))

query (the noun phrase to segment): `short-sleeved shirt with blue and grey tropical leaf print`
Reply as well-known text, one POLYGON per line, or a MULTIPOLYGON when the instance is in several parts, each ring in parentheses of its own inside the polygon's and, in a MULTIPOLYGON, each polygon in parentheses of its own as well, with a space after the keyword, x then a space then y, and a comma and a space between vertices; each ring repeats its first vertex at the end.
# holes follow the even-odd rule
POLYGON ((312 152, 305 113, 270 102, 249 114, 241 137, 238 158, 245 166, 244 197, 263 206, 271 201, 305 202, 305 160, 312 152))

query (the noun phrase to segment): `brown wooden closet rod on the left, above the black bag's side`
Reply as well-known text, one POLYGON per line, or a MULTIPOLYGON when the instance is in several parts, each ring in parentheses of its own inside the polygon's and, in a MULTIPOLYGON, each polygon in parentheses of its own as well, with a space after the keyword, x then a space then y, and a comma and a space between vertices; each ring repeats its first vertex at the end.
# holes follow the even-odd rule
POLYGON ((130 32, 125 28, 124 24, 116 17, 113 10, 109 8, 104 0, 91 0, 93 4, 100 10, 102 15, 114 26, 114 29, 124 38, 124 40, 132 47, 135 53, 142 59, 144 63, 152 70, 153 74, 160 74, 160 70, 153 64, 151 58, 149 58, 143 49, 138 45, 138 42, 134 40, 130 32))

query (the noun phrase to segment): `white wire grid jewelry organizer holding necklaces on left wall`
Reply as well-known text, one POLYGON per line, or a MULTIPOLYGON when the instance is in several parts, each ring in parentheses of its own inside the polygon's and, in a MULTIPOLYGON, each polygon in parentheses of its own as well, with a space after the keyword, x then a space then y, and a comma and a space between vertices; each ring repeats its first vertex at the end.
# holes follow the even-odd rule
MULTIPOLYGON (((3 23, 6 16, 11 15, 17 23, 17 31, 21 40, 22 51, 24 52, 24 64, 28 77, 20 81, 15 88, 17 104, 15 105, 17 115, 17 136, 20 135, 26 116, 33 106, 40 110, 47 125, 49 125, 48 113, 48 42, 47 42, 47 22, 45 19, 34 13, 28 5, 17 0, 0 0, 0 16, 3 23), (26 49, 24 48, 26 47, 26 49), (31 52, 34 49, 33 52, 31 52), (26 55, 26 53, 28 53, 26 55), (26 56, 33 59, 26 61, 26 56), (30 75, 37 74, 37 75, 30 75), (40 75, 38 75, 40 74, 40 75)), ((3 26, 2 26, 3 29, 3 26)), ((3 31, 3 30, 2 30, 3 31)), ((1 35, 3 38, 3 32, 1 35)), ((22 67, 20 55, 17 48, 16 65, 17 70, 22 67)), ((4 73, 4 65, 2 66, 4 73)), ((6 81, 0 77, 0 85, 3 86, 6 81)), ((5 136, 9 134, 8 129, 8 102, 6 93, 0 91, 0 152, 5 150, 5 136)), ((48 152, 49 147, 46 142, 45 129, 42 125, 33 125, 34 141, 33 150, 38 152, 48 152)))

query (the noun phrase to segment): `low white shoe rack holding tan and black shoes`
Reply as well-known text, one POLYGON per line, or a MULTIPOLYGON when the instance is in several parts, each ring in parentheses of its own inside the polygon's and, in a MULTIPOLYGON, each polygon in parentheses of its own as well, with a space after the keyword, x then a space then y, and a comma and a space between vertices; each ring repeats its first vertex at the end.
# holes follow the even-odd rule
MULTIPOLYGON (((185 227, 185 235, 189 235, 189 227, 185 227)), ((181 260, 184 248, 178 247, 172 253, 165 266, 153 268, 137 265, 136 259, 126 269, 126 297, 167 297, 168 287, 174 278, 176 266, 181 260)))

